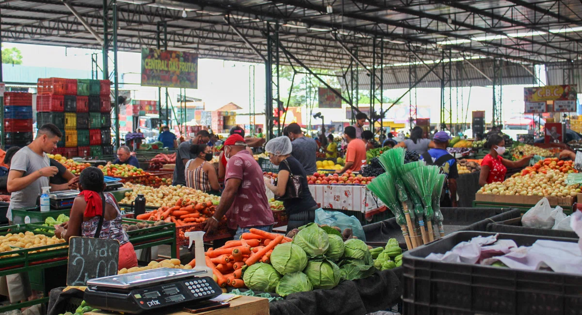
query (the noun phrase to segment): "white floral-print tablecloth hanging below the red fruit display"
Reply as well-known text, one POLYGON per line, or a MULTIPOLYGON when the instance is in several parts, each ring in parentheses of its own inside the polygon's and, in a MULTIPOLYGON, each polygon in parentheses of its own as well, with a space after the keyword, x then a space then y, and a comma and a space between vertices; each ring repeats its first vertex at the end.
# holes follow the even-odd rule
POLYGON ((367 213, 384 206, 364 185, 309 185, 309 191, 325 209, 367 213))

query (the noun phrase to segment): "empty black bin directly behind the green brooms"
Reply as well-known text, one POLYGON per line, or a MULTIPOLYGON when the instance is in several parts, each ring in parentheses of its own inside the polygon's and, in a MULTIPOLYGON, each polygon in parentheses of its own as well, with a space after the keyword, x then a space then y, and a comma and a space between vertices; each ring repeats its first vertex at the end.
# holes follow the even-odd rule
MULTIPOLYGON (((389 210, 386 210, 389 211, 389 210)), ((445 234, 456 231, 485 231, 487 224, 491 222, 505 221, 520 217, 520 210, 514 208, 441 208, 444 218, 445 234)), ((433 223, 433 229, 437 229, 433 223)), ((378 223, 364 225, 365 239, 367 242, 387 242, 396 238, 404 243, 400 225, 396 219, 388 219, 378 223)))

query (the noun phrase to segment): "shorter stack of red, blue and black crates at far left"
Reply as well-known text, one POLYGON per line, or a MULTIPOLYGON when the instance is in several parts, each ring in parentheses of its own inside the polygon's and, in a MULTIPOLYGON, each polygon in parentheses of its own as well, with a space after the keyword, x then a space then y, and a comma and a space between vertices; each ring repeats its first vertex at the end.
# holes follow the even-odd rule
POLYGON ((33 141, 33 95, 5 92, 4 105, 5 149, 29 145, 33 141))

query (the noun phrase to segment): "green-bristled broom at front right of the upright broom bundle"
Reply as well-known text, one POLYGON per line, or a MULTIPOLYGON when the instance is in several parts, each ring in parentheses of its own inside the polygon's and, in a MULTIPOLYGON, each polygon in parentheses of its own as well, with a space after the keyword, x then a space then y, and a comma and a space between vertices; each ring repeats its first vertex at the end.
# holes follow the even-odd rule
POLYGON ((414 191, 421 197, 424 204, 424 219, 427 221, 428 235, 424 231, 424 221, 421 221, 420 217, 418 223, 421 225, 420 231, 423 234, 425 244, 434 241, 432 231, 432 191, 434 190, 438 174, 439 167, 424 166, 417 167, 405 175, 406 181, 414 188, 414 191))

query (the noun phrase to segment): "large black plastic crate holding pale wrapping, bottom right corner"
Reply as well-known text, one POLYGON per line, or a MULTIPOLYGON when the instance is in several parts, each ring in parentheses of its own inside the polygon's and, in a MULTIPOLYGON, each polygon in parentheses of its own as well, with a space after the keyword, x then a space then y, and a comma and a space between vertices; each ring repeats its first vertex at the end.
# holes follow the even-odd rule
MULTIPOLYGON (((495 233, 463 231, 446 235, 404 253, 403 315, 578 314, 582 306, 582 276, 551 271, 527 271, 480 264, 427 260, 460 242, 495 233)), ((578 242, 572 238, 499 234, 518 246, 538 239, 578 242)))

